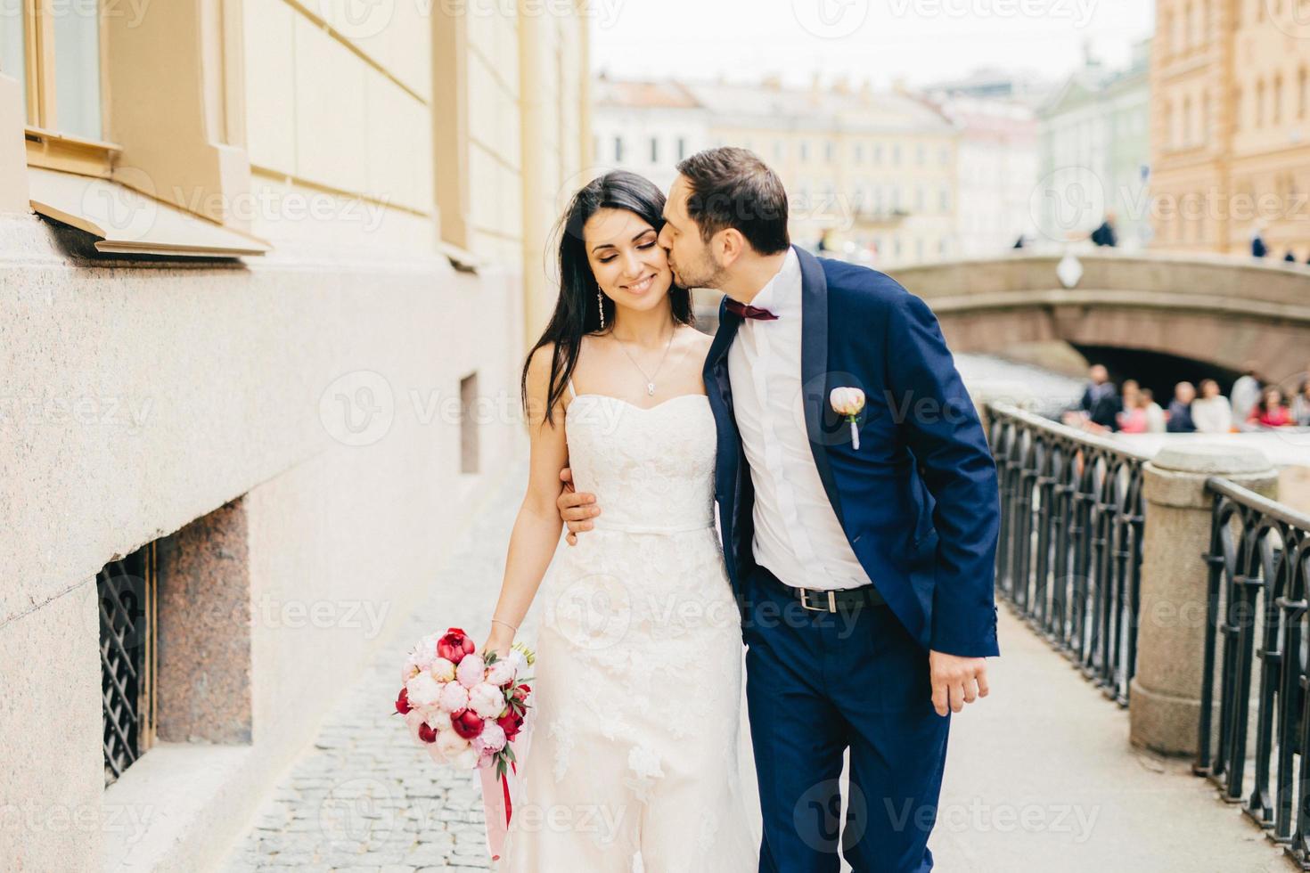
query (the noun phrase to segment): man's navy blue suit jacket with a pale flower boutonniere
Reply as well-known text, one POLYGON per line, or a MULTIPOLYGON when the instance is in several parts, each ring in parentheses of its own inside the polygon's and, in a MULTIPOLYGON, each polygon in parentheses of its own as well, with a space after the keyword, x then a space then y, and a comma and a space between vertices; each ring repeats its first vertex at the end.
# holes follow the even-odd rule
MULTIPOLYGON (((800 377, 819 478, 855 556, 925 648, 998 654, 996 463, 937 317, 896 280, 796 249, 802 272, 800 377), (865 391, 859 449, 828 403, 865 391)), ((741 317, 719 305, 705 361, 718 425, 714 492, 738 597, 755 567, 755 491, 732 414, 728 347, 741 317)))

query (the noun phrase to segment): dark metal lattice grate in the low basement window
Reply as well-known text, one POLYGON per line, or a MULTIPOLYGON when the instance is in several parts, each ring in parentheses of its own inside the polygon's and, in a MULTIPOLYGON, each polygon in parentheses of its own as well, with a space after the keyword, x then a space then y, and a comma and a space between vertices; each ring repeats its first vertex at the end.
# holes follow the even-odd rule
POLYGON ((147 543, 96 576, 106 785, 153 739, 155 569, 155 543, 147 543))

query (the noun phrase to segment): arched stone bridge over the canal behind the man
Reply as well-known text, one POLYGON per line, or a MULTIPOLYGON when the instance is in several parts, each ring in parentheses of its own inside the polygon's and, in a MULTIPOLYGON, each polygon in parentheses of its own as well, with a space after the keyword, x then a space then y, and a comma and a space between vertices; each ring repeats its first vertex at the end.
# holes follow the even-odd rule
POLYGON ((1279 382, 1310 369, 1310 267, 1207 254, 1074 257, 1081 277, 1070 288, 1056 274, 1061 254, 1015 251, 887 272, 931 305, 959 352, 1064 340, 1229 372, 1258 361, 1262 376, 1279 382))

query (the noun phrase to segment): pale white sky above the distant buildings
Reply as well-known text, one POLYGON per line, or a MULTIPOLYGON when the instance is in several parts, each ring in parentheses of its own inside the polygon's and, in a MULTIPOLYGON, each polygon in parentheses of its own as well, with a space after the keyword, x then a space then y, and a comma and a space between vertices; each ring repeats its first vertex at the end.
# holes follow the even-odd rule
POLYGON ((1127 64, 1154 0, 587 0, 592 71, 616 79, 888 86, 979 68, 1061 79, 1083 47, 1127 64))

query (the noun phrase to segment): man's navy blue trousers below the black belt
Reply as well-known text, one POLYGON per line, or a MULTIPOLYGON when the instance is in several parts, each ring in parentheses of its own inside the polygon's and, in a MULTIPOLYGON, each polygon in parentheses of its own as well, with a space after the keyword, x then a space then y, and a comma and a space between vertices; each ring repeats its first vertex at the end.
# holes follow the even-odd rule
POLYGON ((931 870, 950 715, 933 709, 927 652, 884 605, 815 613, 781 585, 757 567, 741 603, 760 872, 836 873, 838 852, 855 873, 931 870))

